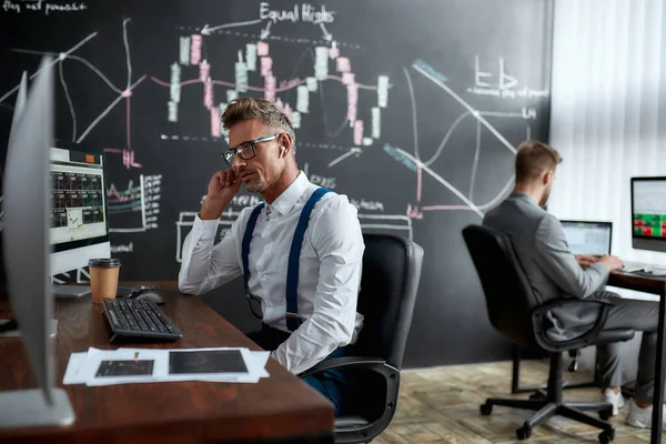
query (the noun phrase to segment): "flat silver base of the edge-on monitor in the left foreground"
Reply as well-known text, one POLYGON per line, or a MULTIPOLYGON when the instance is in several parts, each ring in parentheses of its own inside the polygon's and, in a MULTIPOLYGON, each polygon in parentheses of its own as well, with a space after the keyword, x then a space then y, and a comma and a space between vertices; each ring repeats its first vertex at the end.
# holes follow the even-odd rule
POLYGON ((72 424, 74 411, 67 392, 51 390, 51 401, 47 403, 41 389, 0 392, 0 430, 72 424))

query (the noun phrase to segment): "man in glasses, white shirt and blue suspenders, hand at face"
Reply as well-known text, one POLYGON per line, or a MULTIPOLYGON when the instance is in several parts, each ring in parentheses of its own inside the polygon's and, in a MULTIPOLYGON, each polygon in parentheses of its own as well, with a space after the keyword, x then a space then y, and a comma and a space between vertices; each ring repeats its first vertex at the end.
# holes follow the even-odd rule
MULTIPOLYGON (((365 245, 356 209, 344 195, 322 195, 327 190, 299 171, 291 122, 271 102, 236 99, 222 123, 232 147, 223 153, 231 169, 218 171, 209 183, 183 243, 179 287, 201 294, 243 275, 249 297, 260 300, 263 312, 262 331, 251 337, 299 374, 343 355, 363 325, 356 301, 365 245), (243 209, 215 245, 218 220, 242 184, 264 202, 243 209), (302 241, 292 245, 299 222, 302 241)), ((305 381, 340 412, 343 371, 305 381)))

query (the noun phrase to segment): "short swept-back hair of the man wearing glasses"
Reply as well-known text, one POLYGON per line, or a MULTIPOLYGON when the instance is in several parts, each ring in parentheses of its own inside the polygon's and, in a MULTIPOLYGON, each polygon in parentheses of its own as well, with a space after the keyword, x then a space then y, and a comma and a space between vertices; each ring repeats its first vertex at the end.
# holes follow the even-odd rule
MULTIPOLYGON (((239 98, 226 105, 222 114, 225 130, 248 119, 258 119, 266 125, 283 130, 292 137, 292 150, 296 152, 296 134, 286 114, 265 99, 239 98)), ((268 135, 268 134, 266 134, 268 135)))

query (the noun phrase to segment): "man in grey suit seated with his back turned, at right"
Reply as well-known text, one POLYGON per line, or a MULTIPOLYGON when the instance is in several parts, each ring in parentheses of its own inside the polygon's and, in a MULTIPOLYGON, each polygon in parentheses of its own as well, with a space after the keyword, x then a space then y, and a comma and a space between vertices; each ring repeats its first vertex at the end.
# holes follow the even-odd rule
MULTIPOLYGON (((541 303, 562 296, 612 299, 614 305, 604 327, 643 332, 635 395, 629 402, 626 422, 636 427, 650 427, 658 304, 622 299, 603 290, 608 273, 624 266, 618 258, 609 254, 575 256, 569 252, 562 224, 544 210, 561 162, 562 158, 552 147, 538 141, 523 142, 516 153, 514 191, 487 212, 483 224, 511 238, 541 303)), ((559 340, 577 336, 592 327, 599 310, 589 304, 553 310, 549 319, 554 326, 548 334, 559 340)), ((620 344, 597 346, 599 382, 606 401, 614 405, 614 414, 624 405, 619 391, 619 350, 620 344)))

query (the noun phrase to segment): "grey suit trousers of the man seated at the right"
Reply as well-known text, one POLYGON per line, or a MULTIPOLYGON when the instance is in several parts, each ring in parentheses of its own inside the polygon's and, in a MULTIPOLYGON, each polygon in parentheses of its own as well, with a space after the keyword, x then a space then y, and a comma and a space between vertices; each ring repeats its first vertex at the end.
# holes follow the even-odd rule
MULTIPOLYGON (((658 303, 623 299, 608 291, 597 291, 589 299, 613 300, 614 306, 608 312, 604 330, 634 329, 643 332, 634 398, 652 403, 657 356, 658 303)), ((597 345, 596 365, 602 387, 619 387, 622 385, 620 349, 622 343, 597 345)))

